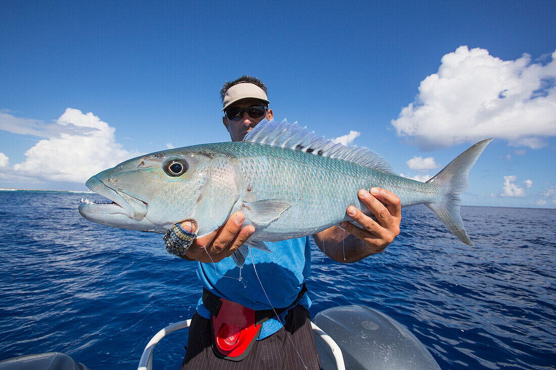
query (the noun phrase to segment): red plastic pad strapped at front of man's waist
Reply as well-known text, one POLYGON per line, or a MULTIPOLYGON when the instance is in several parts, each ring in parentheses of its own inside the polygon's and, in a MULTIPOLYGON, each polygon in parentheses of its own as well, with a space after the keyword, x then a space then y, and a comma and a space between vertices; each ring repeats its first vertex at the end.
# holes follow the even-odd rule
POLYGON ((239 303, 220 298, 222 307, 212 317, 214 343, 225 358, 239 361, 259 336, 260 324, 255 324, 255 311, 239 303))

